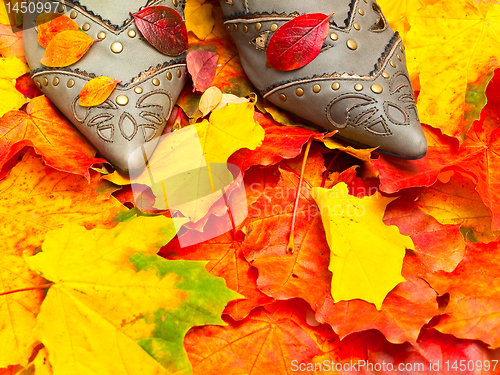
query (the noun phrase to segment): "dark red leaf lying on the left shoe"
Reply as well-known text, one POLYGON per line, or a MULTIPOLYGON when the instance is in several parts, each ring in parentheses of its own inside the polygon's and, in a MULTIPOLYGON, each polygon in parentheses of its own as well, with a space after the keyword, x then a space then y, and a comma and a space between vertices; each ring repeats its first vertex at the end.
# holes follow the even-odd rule
POLYGON ((161 53, 178 56, 187 50, 186 24, 174 9, 157 5, 132 16, 144 38, 161 53))

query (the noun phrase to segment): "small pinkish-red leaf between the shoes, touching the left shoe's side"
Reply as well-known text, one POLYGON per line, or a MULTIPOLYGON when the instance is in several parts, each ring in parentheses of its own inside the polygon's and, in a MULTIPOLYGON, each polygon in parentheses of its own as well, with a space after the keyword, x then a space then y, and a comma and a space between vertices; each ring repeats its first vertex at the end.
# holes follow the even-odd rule
POLYGON ((193 78, 197 91, 205 92, 215 78, 219 55, 210 51, 190 51, 187 55, 187 68, 193 78))

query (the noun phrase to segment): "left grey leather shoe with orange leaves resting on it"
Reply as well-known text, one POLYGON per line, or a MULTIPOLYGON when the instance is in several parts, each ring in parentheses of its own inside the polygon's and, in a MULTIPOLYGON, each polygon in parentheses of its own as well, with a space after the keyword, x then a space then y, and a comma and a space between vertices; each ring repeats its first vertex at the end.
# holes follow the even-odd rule
POLYGON ((177 7, 168 0, 80 0, 65 3, 67 6, 63 14, 70 16, 71 12, 76 12, 74 21, 80 28, 90 25, 86 31, 89 36, 97 39, 97 34, 104 32, 106 38, 94 42, 77 63, 67 68, 47 68, 40 63, 45 50, 38 44, 37 28, 30 27, 35 24, 38 14, 25 14, 23 43, 32 78, 115 167, 122 171, 142 168, 143 158, 128 160, 128 156, 145 142, 158 141, 157 137, 161 135, 186 81, 186 54, 169 57, 158 52, 143 39, 129 12, 137 12, 147 5, 165 5, 183 15, 182 2, 177 7), (130 30, 135 31, 135 37, 129 36, 130 30), (122 52, 111 51, 114 42, 123 45, 122 52), (167 73, 171 73, 170 79, 167 73), (87 111, 76 101, 85 83, 97 76, 108 76, 121 81, 121 84, 105 104, 87 111), (56 78, 59 83, 54 85, 56 78), (153 84, 155 78, 159 80, 158 86, 153 84), (68 87, 69 80, 74 81, 74 86, 68 87), (44 85, 44 82, 47 84, 44 85), (140 94, 134 91, 137 87, 142 89, 140 94), (119 95, 127 96, 126 105, 117 104, 119 95))

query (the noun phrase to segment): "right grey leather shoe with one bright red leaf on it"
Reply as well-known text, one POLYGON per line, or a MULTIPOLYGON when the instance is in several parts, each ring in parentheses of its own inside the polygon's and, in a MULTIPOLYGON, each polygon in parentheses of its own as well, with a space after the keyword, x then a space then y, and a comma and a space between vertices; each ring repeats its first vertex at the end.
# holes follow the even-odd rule
POLYGON ((404 47, 374 0, 221 0, 221 4, 243 68, 270 102, 325 129, 339 130, 340 137, 361 145, 410 159, 425 155, 427 142, 404 47), (330 35, 336 38, 327 37, 323 51, 300 69, 282 72, 267 67, 265 48, 272 30, 298 14, 316 12, 335 12, 330 35), (349 40, 357 48, 349 48, 349 40), (356 90, 356 84, 362 88, 356 90), (372 90, 374 84, 380 85, 381 93, 372 90))

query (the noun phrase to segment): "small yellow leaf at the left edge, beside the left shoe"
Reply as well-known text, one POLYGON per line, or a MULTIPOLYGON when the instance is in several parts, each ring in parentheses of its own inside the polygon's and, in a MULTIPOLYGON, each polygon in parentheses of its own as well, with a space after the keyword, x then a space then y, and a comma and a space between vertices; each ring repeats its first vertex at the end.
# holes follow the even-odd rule
POLYGON ((16 89, 16 78, 28 72, 28 66, 17 57, 0 58, 0 117, 26 103, 16 89))

